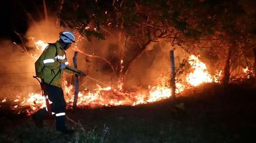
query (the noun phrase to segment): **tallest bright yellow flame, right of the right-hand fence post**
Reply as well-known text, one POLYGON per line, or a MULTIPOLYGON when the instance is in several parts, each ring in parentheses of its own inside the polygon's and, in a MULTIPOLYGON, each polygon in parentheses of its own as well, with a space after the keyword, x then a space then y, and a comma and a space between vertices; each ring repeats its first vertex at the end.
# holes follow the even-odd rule
POLYGON ((201 83, 212 82, 212 77, 207 71, 206 65, 201 62, 194 54, 190 55, 188 63, 191 68, 195 69, 193 73, 189 73, 186 77, 188 83, 196 87, 201 83))

